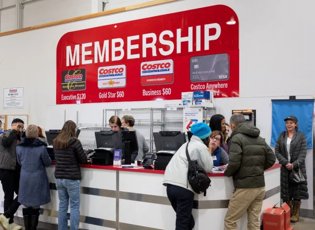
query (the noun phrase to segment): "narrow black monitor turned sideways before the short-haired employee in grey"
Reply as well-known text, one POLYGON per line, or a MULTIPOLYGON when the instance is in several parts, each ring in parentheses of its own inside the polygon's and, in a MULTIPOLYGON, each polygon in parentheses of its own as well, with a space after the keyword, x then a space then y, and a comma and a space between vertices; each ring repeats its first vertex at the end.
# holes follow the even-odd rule
POLYGON ((127 130, 123 132, 123 139, 125 142, 125 164, 131 164, 131 153, 133 151, 138 151, 138 141, 135 130, 127 130))

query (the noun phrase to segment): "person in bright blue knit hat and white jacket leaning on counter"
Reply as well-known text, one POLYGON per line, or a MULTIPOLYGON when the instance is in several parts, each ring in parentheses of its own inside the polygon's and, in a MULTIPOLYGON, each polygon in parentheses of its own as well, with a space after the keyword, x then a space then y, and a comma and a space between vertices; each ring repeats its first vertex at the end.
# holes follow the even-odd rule
MULTIPOLYGON (((206 173, 211 173, 213 159, 209 153, 208 145, 211 128, 205 123, 196 123, 191 126, 192 137, 188 145, 191 161, 197 161, 206 173)), ((163 185, 166 186, 167 198, 176 212, 175 230, 192 230, 195 222, 192 212, 194 192, 188 183, 188 160, 186 146, 183 144, 168 163, 163 185)))

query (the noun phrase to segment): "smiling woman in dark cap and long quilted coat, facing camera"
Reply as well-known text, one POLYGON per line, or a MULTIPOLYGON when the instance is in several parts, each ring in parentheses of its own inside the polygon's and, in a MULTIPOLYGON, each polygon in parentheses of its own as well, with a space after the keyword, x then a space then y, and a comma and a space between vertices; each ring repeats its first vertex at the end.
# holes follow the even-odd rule
POLYGON ((284 119, 286 131, 278 137, 275 153, 281 167, 281 199, 291 207, 291 222, 297 222, 300 215, 301 200, 308 200, 305 157, 307 143, 304 133, 297 131, 297 118, 290 115, 284 119), (302 170, 305 181, 292 184, 289 176, 292 170, 302 170), (292 201, 293 200, 293 201, 292 201), (293 206, 293 207, 292 207, 293 206))

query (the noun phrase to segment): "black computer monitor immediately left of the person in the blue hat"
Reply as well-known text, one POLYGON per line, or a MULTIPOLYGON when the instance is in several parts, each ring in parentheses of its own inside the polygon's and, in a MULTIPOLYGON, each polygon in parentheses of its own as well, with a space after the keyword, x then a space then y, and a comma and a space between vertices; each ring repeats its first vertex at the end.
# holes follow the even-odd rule
POLYGON ((156 150, 161 151, 177 151, 184 143, 186 143, 185 133, 181 131, 160 131, 153 133, 156 150))

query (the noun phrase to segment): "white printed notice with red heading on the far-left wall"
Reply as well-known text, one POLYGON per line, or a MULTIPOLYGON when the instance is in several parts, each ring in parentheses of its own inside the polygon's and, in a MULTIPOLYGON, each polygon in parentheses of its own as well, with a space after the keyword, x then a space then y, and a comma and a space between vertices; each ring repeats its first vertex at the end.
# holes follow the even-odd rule
POLYGON ((24 87, 3 88, 3 109, 24 108, 24 87))

